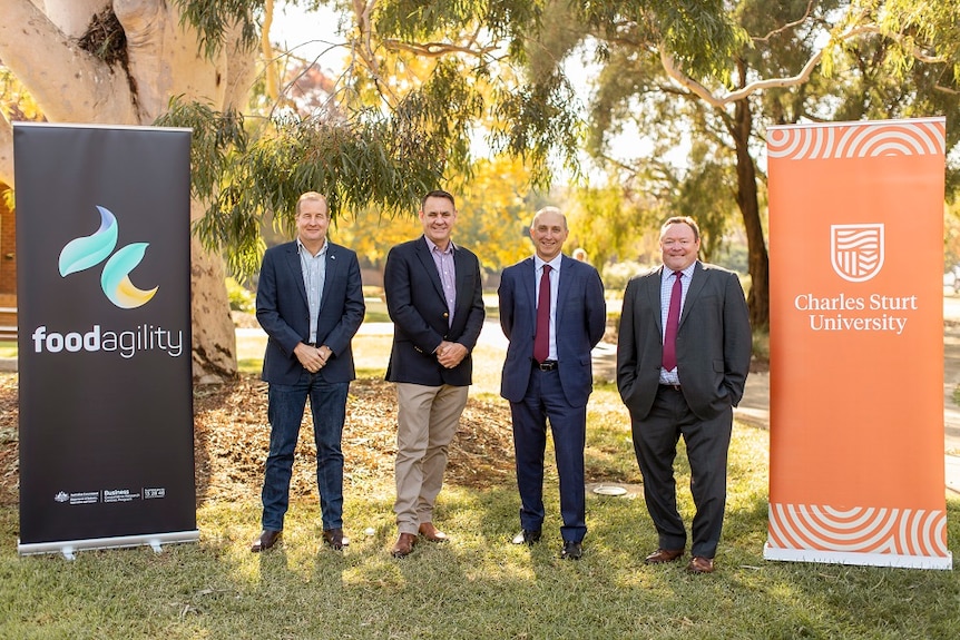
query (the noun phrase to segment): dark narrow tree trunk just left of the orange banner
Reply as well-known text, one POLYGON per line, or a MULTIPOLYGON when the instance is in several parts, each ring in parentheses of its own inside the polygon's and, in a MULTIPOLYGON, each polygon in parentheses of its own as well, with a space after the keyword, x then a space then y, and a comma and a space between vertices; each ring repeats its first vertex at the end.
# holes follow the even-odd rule
POLYGON ((748 146, 752 130, 753 114, 751 112, 750 100, 738 100, 734 108, 731 134, 736 148, 736 203, 743 216, 744 229, 746 229, 747 270, 751 278, 746 302, 753 327, 766 331, 770 327, 770 256, 766 252, 763 225, 760 220, 756 165, 754 165, 748 146))

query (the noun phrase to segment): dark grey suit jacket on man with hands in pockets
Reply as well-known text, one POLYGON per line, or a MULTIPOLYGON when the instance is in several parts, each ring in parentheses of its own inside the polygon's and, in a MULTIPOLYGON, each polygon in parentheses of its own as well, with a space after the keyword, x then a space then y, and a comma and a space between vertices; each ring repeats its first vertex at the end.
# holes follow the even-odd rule
MULTIPOLYGON (((627 283, 617 344, 617 388, 635 420, 654 404, 663 361, 663 267, 627 283)), ((680 391, 701 420, 743 397, 753 349, 750 313, 733 272, 697 262, 677 327, 680 391)))

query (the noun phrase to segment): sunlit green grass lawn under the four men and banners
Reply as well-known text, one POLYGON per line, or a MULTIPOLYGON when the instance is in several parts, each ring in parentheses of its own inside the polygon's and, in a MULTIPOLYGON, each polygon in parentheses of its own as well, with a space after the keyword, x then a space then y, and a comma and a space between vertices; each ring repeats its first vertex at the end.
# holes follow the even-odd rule
MULTIPOLYGON (((355 343, 362 375, 382 376, 389 336, 355 343)), ((254 345, 251 348, 256 348, 254 345)), ((502 353, 480 347, 472 394, 497 397, 502 353)), ((590 477, 639 482, 627 414, 613 385, 590 401, 590 477)), ((19 558, 18 513, 0 508, 0 638, 361 639, 952 639, 960 638, 960 575, 763 560, 768 433, 737 424, 717 572, 647 567, 657 536, 643 499, 588 494, 585 555, 561 561, 556 473, 533 548, 509 544, 518 525, 512 481, 486 491, 445 486, 435 521, 447 544, 394 560, 391 483, 349 485, 351 545, 323 549, 316 499, 287 515, 284 545, 252 554, 257 495, 205 502, 200 541, 19 558), (365 533, 369 531, 369 534, 365 533)), ((552 456, 552 452, 548 453, 552 456)), ((693 505, 682 452, 678 492, 693 505)), ((349 461, 347 461, 349 464, 349 461)), ((948 501, 960 550, 960 501, 948 501)))

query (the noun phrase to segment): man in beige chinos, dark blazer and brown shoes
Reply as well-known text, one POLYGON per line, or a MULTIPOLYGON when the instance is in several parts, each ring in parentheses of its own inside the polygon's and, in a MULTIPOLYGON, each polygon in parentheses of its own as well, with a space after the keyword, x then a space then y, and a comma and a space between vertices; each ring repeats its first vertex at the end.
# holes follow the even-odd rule
POLYGON ((470 352, 486 315, 480 260, 450 239, 453 196, 427 194, 419 216, 423 235, 390 249, 383 272, 393 321, 386 380, 396 383, 398 402, 394 558, 409 555, 418 534, 431 542, 448 539, 433 525, 433 503, 467 405, 470 352))

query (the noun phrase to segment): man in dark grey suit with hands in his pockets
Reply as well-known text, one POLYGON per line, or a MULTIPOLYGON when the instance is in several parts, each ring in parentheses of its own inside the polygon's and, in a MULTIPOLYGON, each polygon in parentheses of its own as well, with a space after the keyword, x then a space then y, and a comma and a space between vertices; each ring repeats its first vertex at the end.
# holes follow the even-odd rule
POLYGON ((630 412, 634 451, 659 548, 648 564, 679 559, 687 535, 677 511, 674 460, 683 436, 696 515, 687 570, 711 573, 726 504, 733 407, 750 371, 751 326, 736 274, 697 259, 696 221, 660 228, 664 266, 627 284, 617 345, 617 387, 630 412))

